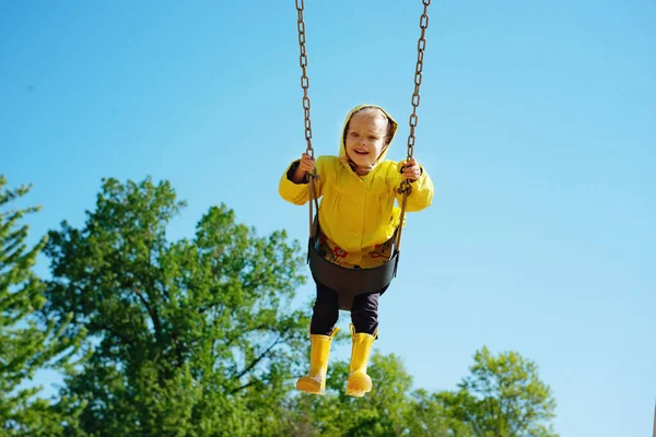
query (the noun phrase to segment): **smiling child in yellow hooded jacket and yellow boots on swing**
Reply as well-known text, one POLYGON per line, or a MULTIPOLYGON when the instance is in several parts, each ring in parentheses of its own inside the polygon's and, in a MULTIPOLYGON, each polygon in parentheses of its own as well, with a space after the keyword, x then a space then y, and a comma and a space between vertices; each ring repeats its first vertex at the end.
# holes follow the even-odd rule
MULTIPOLYGON (((280 196, 302 205, 308 201, 306 174, 317 169, 316 196, 319 205, 320 251, 329 261, 351 269, 380 265, 389 259, 391 238, 400 225, 402 194, 397 188, 410 180, 406 211, 421 211, 433 199, 433 182, 414 161, 386 161, 398 125, 383 108, 362 105, 347 116, 339 156, 319 156, 316 162, 306 153, 293 162, 280 179, 280 196)), ((315 281, 316 282, 316 281, 315 281)), ((338 297, 320 283, 309 326, 309 373, 298 379, 296 388, 306 393, 323 394, 330 343, 339 328, 338 297)), ((372 389, 366 375, 374 340, 378 335, 378 297, 387 287, 361 294, 351 309, 353 340, 347 394, 363 397, 372 389)))

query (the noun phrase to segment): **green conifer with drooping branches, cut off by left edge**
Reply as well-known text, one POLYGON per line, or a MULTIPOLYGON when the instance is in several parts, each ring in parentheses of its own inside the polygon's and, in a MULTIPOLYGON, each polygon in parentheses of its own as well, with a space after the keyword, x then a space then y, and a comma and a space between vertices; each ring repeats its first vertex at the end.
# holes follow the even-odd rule
MULTIPOLYGON (((10 209, 30 187, 7 188, 0 175, 0 435, 55 436, 63 423, 73 423, 75 411, 62 415, 48 400, 38 398, 40 387, 27 388, 35 373, 61 368, 75 352, 81 330, 74 338, 62 335, 70 315, 39 322, 37 316, 46 299, 44 284, 33 267, 46 238, 34 247, 26 244, 25 214, 38 208, 10 209)), ((65 404, 67 400, 60 400, 65 404)))

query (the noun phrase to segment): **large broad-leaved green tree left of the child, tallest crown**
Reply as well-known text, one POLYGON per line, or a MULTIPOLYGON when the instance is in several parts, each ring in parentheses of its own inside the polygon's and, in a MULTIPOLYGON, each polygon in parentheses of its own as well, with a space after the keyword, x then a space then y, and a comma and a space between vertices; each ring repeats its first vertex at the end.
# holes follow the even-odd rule
POLYGON ((87 403, 71 435, 280 435, 307 343, 290 305, 300 247, 258 237, 224 205, 171 241, 184 206, 167 181, 107 179, 82 228, 50 233, 46 311, 90 334, 63 391, 87 403))

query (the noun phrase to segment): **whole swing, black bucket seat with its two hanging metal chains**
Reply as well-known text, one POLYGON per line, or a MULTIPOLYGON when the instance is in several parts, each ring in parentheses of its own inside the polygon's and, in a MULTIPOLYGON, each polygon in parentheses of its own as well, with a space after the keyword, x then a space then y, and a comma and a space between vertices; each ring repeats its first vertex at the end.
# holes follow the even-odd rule
MULTIPOLYGON (((417 49, 417 67, 414 69, 414 93, 412 94, 412 114, 410 115, 410 134, 408 137, 408 160, 412 158, 414 151, 414 128, 417 127, 417 108, 419 106, 419 88, 422 80, 423 70, 423 57, 424 49, 426 46, 425 31, 429 27, 429 15, 427 9, 431 4, 431 0, 422 0, 423 13, 420 17, 419 25, 421 28, 421 36, 419 37, 417 49)), ((296 10, 298 12, 298 45, 301 48, 301 69, 303 75, 301 76, 301 86, 303 87, 303 110, 305 117, 305 140, 307 141, 306 153, 314 158, 314 149, 312 146, 312 122, 309 119, 309 96, 307 90, 309 87, 309 79, 307 76, 307 54, 305 49, 305 22, 303 21, 304 0, 296 0, 296 10)), ((408 180, 401 182, 397 192, 402 193, 401 201, 401 213, 399 220, 399 226, 394 233, 393 240, 393 255, 382 265, 371 269, 348 269, 338 264, 335 264, 325 259, 319 253, 319 204, 316 197, 315 179, 319 176, 316 174, 316 168, 313 173, 307 174, 307 186, 309 190, 309 240, 307 244, 307 262, 315 281, 326 285, 333 290, 338 295, 339 309, 351 310, 353 307, 353 299, 359 294, 375 293, 387 287, 391 281, 396 277, 397 268, 400 257, 401 248, 401 232, 403 227, 403 220, 406 216, 406 202, 408 196, 412 191, 412 187, 408 180), (313 213, 313 206, 316 208, 316 214, 313 213)))

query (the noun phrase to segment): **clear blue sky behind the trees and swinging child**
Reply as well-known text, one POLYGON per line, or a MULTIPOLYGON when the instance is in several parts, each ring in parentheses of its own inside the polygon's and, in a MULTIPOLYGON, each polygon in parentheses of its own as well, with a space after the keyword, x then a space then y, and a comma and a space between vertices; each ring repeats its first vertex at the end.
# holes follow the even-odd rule
MULTIPOLYGON (((401 160, 421 1, 306 9, 316 153, 374 103, 401 125, 401 160)), ((654 22, 647 0, 431 4, 415 157, 436 194, 409 216, 376 343, 417 387, 453 389, 476 350, 513 350, 539 364, 562 436, 651 432, 654 22)), ((101 178, 152 175, 189 203, 173 238, 224 202, 303 243, 305 208, 278 196, 305 150, 300 75, 291 0, 2 2, 0 172, 35 185, 33 239, 81 226, 101 178)))

